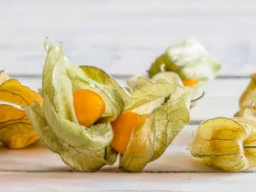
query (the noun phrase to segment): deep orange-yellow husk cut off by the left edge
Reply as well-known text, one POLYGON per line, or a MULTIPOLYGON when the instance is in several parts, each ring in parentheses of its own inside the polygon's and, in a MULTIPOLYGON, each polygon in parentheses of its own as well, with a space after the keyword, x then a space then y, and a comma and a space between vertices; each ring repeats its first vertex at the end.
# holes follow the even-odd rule
POLYGON ((24 106, 37 101, 42 105, 42 97, 17 79, 9 79, 0 71, 0 142, 8 148, 25 148, 38 141, 24 106))

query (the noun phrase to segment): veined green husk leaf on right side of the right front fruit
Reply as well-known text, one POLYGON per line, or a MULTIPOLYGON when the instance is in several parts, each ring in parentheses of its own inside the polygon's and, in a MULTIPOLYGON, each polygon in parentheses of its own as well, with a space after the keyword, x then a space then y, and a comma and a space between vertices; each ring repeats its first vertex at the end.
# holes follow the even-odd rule
POLYGON ((171 96, 166 104, 154 110, 154 154, 150 161, 158 159, 189 123, 189 103, 189 92, 183 92, 182 96, 171 96))

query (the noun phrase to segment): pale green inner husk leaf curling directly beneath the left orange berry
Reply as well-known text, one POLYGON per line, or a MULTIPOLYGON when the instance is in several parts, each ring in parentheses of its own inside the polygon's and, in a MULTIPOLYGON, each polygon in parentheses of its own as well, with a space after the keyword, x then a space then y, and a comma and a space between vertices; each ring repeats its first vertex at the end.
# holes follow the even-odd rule
POLYGON ((49 98, 44 95, 43 113, 48 125, 56 137, 73 147, 77 148, 104 148, 113 139, 113 130, 110 122, 92 125, 90 129, 84 129, 83 125, 61 118, 56 113, 49 102, 49 98))

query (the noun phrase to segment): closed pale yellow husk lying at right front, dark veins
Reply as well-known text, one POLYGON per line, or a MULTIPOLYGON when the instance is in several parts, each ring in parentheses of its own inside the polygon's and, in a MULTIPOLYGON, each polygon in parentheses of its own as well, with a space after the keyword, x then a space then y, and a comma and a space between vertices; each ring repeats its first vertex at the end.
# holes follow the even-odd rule
POLYGON ((207 166, 230 172, 247 171, 256 166, 255 138, 255 121, 219 117, 199 126, 189 151, 207 166))

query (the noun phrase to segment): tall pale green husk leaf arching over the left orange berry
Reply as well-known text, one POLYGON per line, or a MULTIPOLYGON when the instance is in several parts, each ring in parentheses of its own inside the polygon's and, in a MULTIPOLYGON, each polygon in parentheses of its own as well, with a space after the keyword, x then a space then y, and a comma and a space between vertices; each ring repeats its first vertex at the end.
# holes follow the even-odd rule
POLYGON ((79 89, 93 90, 102 96, 106 102, 102 117, 113 120, 119 115, 124 108, 124 102, 118 90, 90 79, 80 67, 67 60, 62 46, 58 49, 50 44, 48 52, 44 71, 51 72, 54 78, 46 76, 43 79, 43 90, 61 117, 78 123, 73 109, 73 91, 79 89))

